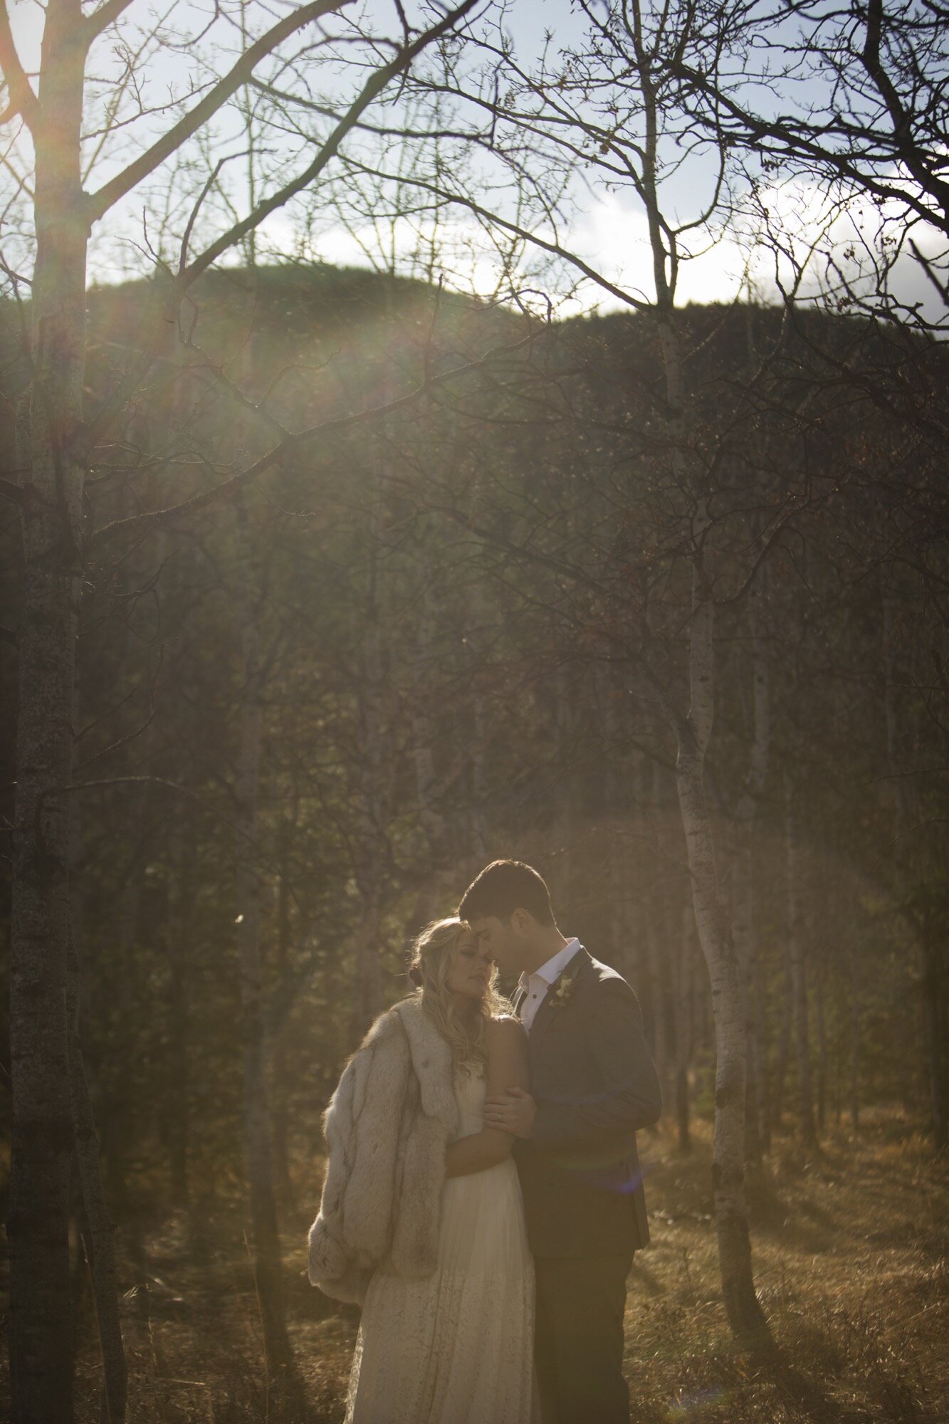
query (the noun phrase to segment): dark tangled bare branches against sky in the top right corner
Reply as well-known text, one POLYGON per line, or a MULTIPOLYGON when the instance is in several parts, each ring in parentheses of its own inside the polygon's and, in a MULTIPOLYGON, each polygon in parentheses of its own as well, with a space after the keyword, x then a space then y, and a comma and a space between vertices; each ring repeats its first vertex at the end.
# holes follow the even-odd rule
POLYGON ((701 63, 680 53, 673 73, 695 124, 742 155, 735 195, 778 282, 804 262, 811 296, 835 309, 945 333, 945 9, 781 0, 721 6, 718 23, 728 46, 701 63))

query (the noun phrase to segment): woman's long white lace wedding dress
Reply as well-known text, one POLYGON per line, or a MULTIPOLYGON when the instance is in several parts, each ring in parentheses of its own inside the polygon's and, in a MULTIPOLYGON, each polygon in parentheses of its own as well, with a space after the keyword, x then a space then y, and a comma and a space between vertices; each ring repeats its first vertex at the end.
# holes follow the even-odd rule
MULTIPOLYGON (((484 1078, 455 1088, 459 1136, 483 1126, 484 1078)), ((534 1265, 512 1158, 442 1192, 426 1280, 378 1270, 349 1378, 346 1424, 531 1424, 534 1265)))

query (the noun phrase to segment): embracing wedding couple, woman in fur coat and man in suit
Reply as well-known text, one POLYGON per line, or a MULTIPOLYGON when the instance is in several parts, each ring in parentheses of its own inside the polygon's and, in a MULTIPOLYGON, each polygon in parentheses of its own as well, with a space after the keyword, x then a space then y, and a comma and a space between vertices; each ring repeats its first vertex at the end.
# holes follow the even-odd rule
POLYGON ((636 1129, 661 1106, 636 995, 516 860, 427 926, 409 977, 325 1119, 309 1279, 362 1306, 346 1424, 628 1424, 636 1129))

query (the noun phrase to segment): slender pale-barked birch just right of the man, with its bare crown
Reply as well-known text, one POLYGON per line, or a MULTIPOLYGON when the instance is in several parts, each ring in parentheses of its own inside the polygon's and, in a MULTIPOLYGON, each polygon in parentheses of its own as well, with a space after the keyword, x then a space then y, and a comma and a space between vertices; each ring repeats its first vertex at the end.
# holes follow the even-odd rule
MULTIPOLYGON (((633 4, 577 7, 586 34, 581 44, 554 51, 537 64, 517 60, 512 41, 497 33, 483 38, 487 66, 480 87, 463 66, 447 67, 432 83, 452 94, 462 115, 490 124, 490 151, 500 154, 516 198, 504 208, 493 198, 462 192, 446 178, 419 181, 439 202, 456 204, 479 224, 517 238, 546 253, 560 271, 571 271, 626 309, 637 312, 655 333, 661 389, 655 394, 651 439, 661 449, 670 488, 667 537, 677 548, 677 587, 688 581, 688 608, 680 624, 681 681, 670 685, 651 659, 658 619, 668 611, 661 592, 653 595, 657 627, 647 605, 628 631, 631 659, 644 693, 653 701, 677 746, 675 787, 685 837, 698 938, 712 988, 715 1014, 715 1149, 714 1193, 722 1289, 730 1323, 742 1337, 765 1330, 751 1270, 744 1198, 745 1018, 741 964, 720 881, 712 816, 705 787, 705 758, 715 708, 715 617, 721 571, 718 518, 712 506, 717 457, 700 454, 675 303, 683 265, 708 239, 727 175, 727 150, 695 142, 691 120, 678 104, 673 61, 728 44, 728 27, 691 7, 651 9, 633 4), (688 218, 677 218, 667 198, 670 179, 688 155, 701 172, 700 194, 688 218), (698 165, 704 167, 698 167, 698 165), (587 192, 621 191, 637 205, 645 225, 644 285, 606 271, 577 252, 566 232, 587 192), (576 206, 571 206, 571 198, 576 206), (700 236, 701 235, 701 236, 700 236), (673 527, 675 533, 673 533, 673 527)), ((418 83, 423 84, 425 75, 418 83)), ((755 561, 767 548, 762 538, 755 561)), ((658 582, 657 582, 658 587, 658 582)), ((732 590, 734 595, 734 590, 732 590)), ((627 609, 628 619, 628 609, 627 609)), ((627 624, 628 627, 628 624, 627 624)), ((665 629, 667 632, 668 629, 665 629)))

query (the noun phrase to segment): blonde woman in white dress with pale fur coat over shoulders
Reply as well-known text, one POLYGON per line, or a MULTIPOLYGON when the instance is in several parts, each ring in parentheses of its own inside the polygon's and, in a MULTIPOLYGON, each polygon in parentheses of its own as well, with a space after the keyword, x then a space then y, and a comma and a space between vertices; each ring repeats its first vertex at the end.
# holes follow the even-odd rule
POLYGON ((527 1040, 465 921, 427 926, 409 977, 325 1121, 309 1279, 362 1303, 346 1424, 530 1424, 533 1260, 513 1136, 482 1118, 527 1088, 527 1040))

